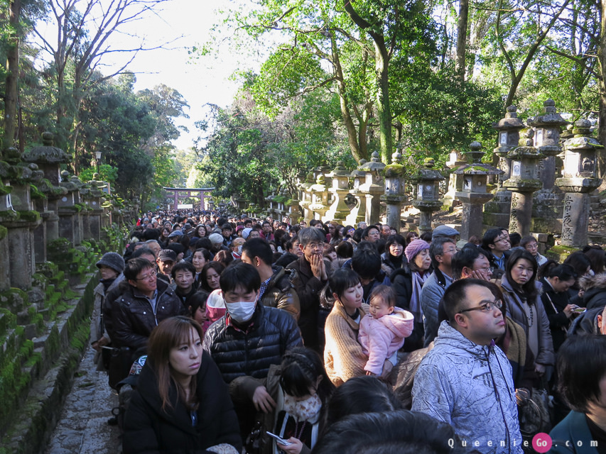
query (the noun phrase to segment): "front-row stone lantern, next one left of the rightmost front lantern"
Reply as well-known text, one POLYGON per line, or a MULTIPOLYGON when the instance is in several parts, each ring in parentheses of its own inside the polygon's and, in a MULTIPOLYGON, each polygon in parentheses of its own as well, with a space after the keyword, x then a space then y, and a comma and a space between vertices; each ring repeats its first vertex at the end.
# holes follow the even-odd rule
POLYGON ((545 155, 533 146, 534 131, 526 131, 526 145, 514 148, 507 157, 512 160, 512 175, 503 186, 512 191, 512 206, 509 214, 509 231, 521 236, 530 234, 532 219, 532 193, 541 189, 537 163, 545 155))

